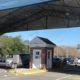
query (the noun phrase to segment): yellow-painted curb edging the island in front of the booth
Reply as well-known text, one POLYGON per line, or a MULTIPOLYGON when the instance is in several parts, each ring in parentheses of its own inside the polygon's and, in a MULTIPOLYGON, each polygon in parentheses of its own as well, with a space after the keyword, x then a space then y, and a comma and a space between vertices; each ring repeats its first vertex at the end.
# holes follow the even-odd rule
POLYGON ((16 70, 9 70, 8 72, 11 74, 23 74, 23 75, 32 75, 32 74, 38 74, 38 73, 44 73, 48 70, 38 70, 38 71, 26 71, 26 72, 17 72, 16 70))

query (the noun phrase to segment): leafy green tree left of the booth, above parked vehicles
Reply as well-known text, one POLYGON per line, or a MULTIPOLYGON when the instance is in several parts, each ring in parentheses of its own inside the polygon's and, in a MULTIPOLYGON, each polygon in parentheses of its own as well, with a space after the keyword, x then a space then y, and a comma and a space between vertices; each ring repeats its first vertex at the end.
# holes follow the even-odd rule
POLYGON ((0 55, 27 53, 28 47, 20 37, 0 37, 0 55))

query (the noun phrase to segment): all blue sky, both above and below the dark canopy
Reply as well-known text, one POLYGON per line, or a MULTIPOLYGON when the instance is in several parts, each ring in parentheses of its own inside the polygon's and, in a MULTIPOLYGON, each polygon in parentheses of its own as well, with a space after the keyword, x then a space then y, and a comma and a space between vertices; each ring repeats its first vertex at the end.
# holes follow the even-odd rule
MULTIPOLYGON (((49 0, 0 0, 0 10, 30 5, 49 0)), ((36 31, 25 31, 7 33, 4 35, 16 37, 21 36, 22 40, 32 40, 33 38, 40 36, 48 38, 57 45, 66 46, 77 46, 80 44, 80 28, 61 28, 51 30, 36 30, 36 31)))

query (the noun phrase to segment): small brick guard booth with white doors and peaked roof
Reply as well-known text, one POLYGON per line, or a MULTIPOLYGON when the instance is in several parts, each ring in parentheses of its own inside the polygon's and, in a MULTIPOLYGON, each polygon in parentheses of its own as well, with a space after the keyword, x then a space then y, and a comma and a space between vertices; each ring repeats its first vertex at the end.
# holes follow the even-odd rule
POLYGON ((30 68, 52 69, 52 58, 55 44, 42 37, 36 37, 30 42, 30 68))

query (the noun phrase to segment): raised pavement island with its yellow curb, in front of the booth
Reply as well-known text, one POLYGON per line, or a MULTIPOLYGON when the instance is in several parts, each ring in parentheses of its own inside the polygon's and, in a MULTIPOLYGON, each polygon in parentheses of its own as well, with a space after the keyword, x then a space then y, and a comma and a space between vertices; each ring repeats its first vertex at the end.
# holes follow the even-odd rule
POLYGON ((32 74, 38 74, 38 73, 44 73, 47 72, 47 70, 39 70, 39 69, 10 69, 8 70, 11 74, 21 74, 21 75, 32 75, 32 74))

